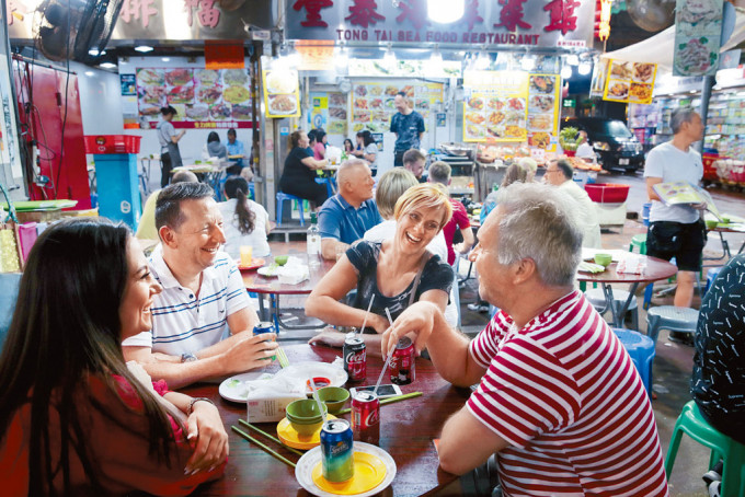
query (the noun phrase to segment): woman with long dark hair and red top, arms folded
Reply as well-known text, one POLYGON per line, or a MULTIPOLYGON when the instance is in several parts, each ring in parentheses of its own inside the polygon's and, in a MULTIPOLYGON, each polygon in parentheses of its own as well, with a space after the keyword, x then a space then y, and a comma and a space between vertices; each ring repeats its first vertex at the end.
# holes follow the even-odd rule
POLYGON ((0 356, 3 495, 185 495, 222 474, 215 405, 124 362, 160 291, 122 223, 66 220, 38 238, 0 356))

